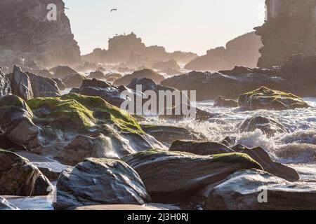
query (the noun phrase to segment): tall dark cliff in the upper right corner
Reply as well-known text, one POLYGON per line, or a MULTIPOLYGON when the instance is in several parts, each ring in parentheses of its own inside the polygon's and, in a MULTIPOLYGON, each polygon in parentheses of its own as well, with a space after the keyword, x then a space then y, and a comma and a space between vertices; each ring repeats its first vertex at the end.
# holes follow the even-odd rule
POLYGON ((263 48, 258 66, 281 65, 290 55, 316 52, 316 1, 266 0, 268 18, 256 34, 263 48))

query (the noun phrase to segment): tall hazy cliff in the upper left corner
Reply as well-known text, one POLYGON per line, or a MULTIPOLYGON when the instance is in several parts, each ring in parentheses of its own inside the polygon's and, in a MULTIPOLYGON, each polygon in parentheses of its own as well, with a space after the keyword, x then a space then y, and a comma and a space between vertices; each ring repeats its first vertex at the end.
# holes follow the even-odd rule
MULTIPOLYGON (((43 66, 75 64, 80 50, 70 29, 62 0, 0 2, 0 63, 12 67, 23 60, 43 66), (48 4, 57 6, 57 20, 48 21, 48 4)), ((22 62, 21 62, 22 61, 22 62)))

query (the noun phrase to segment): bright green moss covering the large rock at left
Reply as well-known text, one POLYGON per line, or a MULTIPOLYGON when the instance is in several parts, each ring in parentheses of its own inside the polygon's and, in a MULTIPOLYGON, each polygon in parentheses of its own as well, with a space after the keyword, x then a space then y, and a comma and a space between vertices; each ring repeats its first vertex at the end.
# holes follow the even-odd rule
POLYGON ((61 97, 31 99, 27 104, 39 122, 46 125, 53 123, 84 129, 111 123, 122 131, 143 133, 133 117, 100 97, 71 93, 61 97))

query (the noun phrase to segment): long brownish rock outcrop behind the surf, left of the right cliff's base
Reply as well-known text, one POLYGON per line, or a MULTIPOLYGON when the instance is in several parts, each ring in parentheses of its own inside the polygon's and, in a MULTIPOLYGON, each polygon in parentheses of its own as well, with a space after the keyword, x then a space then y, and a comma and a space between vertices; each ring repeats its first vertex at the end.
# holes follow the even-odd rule
POLYGON ((272 74, 272 71, 246 70, 242 72, 235 70, 230 75, 227 74, 228 71, 223 71, 223 73, 192 71, 167 78, 161 84, 178 90, 195 90, 198 101, 216 99, 218 96, 237 99, 240 94, 255 90, 263 85, 275 90, 294 91, 290 83, 284 78, 272 74))

